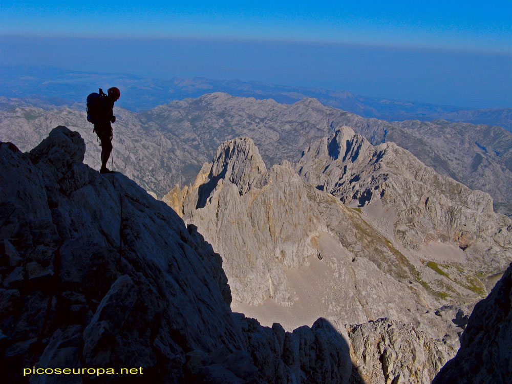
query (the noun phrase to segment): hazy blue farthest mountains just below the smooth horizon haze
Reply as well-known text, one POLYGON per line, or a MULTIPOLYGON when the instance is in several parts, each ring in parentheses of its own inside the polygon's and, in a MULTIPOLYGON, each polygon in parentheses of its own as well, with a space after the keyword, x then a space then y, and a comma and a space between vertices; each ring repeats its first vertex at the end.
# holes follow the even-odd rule
POLYGON ((444 119, 500 125, 512 132, 512 108, 467 110, 451 105, 389 100, 355 95, 347 91, 279 86, 261 81, 214 80, 204 77, 175 77, 165 80, 133 75, 2 66, 0 83, 0 96, 29 99, 33 105, 41 108, 51 108, 51 105, 71 106, 74 102, 83 105, 89 93, 96 92, 99 87, 106 89, 115 85, 122 93, 119 105, 134 112, 146 111, 174 100, 225 92, 232 96, 273 99, 284 104, 311 97, 322 104, 362 117, 388 121, 444 119))

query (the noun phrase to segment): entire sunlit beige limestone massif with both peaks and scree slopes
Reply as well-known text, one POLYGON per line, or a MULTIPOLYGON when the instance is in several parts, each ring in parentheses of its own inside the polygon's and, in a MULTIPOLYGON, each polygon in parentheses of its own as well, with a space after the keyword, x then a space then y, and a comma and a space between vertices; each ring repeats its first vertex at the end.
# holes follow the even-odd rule
MULTIPOLYGON (((348 128, 315 144, 296 165, 301 178, 286 161, 267 170, 248 138, 226 141, 196 181, 173 189, 167 201, 221 254, 232 308, 267 324, 277 316, 287 328, 318 316, 328 318, 341 333, 344 324, 359 324, 347 329, 353 373, 375 383, 430 382, 456 353, 467 313, 486 291, 485 279, 465 270, 466 264, 487 274, 500 272, 500 258, 509 255, 508 235, 503 246, 496 246, 500 262, 490 266, 487 261, 492 259, 475 257, 472 247, 483 248, 478 242, 463 251, 455 240, 423 234, 417 247, 409 246, 393 228, 401 210, 416 212, 411 195, 423 188, 439 211, 438 201, 469 211, 463 205, 467 197, 447 192, 463 186, 436 175, 396 145, 376 149, 348 128), (401 168, 384 161, 393 151, 402 151, 401 168), (347 164, 336 167, 331 164, 336 160, 347 164), (414 161, 413 166, 407 161, 414 161), (347 182, 344 173, 351 176, 347 182), (440 180, 440 191, 435 190, 438 184, 421 185, 414 178, 418 175, 427 185, 440 180), (386 202, 381 200, 386 194, 380 196, 375 189, 383 183, 392 185, 386 202), (362 207, 350 208, 352 199, 346 206, 326 189, 368 199, 360 204, 354 198, 362 207), (378 210, 367 210, 373 204, 378 210)), ((475 195, 482 202, 470 213, 481 215, 480 227, 491 228, 482 231, 479 241, 488 241, 488 233, 497 238, 495 223, 484 224, 507 218, 492 212, 488 195, 475 195)), ((439 226, 432 220, 426 228, 439 226)))

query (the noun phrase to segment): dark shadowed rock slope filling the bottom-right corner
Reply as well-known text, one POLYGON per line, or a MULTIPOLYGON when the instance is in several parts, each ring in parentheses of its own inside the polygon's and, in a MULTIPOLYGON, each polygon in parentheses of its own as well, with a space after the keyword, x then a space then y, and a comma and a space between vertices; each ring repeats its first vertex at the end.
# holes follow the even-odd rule
POLYGON ((468 319, 460 349, 433 383, 498 384, 512 377, 512 264, 468 319))

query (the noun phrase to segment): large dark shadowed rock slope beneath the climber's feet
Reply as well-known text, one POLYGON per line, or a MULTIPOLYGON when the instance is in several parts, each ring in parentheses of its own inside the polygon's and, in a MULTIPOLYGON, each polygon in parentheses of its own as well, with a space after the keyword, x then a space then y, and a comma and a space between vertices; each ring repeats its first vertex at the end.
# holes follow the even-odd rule
POLYGON ((63 126, 30 153, 0 143, 9 382, 364 382, 325 319, 285 332, 232 313, 222 259, 197 228, 84 152, 63 126), (33 367, 97 371, 24 376, 33 367), (107 368, 142 370, 97 375, 107 368))

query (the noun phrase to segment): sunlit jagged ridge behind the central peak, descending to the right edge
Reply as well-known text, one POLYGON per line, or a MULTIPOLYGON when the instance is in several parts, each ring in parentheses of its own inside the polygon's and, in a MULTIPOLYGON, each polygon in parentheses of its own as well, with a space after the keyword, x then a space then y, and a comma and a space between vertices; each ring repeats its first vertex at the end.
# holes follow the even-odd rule
POLYGON ((512 258, 512 221, 495 214, 489 195, 437 174, 394 143, 373 146, 344 126, 307 148, 296 169, 370 217, 393 217, 393 234, 404 247, 456 244, 485 259, 490 269, 480 272, 487 274, 504 270, 512 258))

